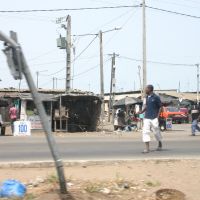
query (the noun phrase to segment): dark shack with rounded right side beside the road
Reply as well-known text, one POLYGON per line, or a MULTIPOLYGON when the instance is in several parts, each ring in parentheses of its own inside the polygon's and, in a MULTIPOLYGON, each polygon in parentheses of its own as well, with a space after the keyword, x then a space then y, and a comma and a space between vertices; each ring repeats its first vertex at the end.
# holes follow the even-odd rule
POLYGON ((101 114, 101 99, 93 94, 65 94, 53 106, 54 131, 96 131, 101 114))

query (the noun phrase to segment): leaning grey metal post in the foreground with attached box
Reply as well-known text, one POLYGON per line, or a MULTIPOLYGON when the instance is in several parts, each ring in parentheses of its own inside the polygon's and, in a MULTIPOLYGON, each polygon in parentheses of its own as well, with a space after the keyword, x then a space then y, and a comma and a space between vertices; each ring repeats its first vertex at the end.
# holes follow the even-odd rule
POLYGON ((22 78, 21 72, 24 74, 26 78, 35 106, 38 110, 40 119, 42 121, 43 129, 45 131, 46 139, 48 141, 48 145, 49 145, 52 157, 55 161, 56 170, 59 177, 60 191, 62 194, 66 194, 67 187, 66 187, 66 181, 65 181, 65 175, 64 175, 63 162, 58 154, 56 142, 51 132, 51 126, 48 121, 48 118, 47 118, 47 115, 42 103, 42 99, 34 84, 31 72, 25 60, 21 47, 17 43, 16 34, 14 32, 11 32, 11 37, 12 38, 9 38, 5 36, 2 32, 0 32, 0 40, 6 42, 6 45, 7 45, 6 49, 4 50, 4 53, 7 56, 7 61, 8 61, 9 67, 12 70, 12 74, 14 78, 21 79, 22 78))

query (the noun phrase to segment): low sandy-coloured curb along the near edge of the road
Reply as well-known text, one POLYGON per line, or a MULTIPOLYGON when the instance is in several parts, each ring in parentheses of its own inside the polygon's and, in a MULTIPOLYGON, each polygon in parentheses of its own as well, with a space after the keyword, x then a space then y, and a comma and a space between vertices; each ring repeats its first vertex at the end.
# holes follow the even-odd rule
MULTIPOLYGON (((182 161, 200 161, 200 158, 151 158, 151 159, 125 159, 125 160, 71 160, 63 161, 65 167, 73 166, 95 166, 95 165, 121 165, 133 162, 152 162, 152 163, 166 163, 166 162, 182 162, 182 161)), ((30 162, 2 162, 0 169, 14 169, 14 168, 52 168, 53 161, 30 161, 30 162)))

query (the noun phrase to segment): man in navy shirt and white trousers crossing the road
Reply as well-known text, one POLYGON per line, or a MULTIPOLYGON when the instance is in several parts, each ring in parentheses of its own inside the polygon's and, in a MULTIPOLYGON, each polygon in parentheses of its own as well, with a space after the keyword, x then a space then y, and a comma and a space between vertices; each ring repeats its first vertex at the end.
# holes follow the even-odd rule
POLYGON ((143 142, 145 143, 146 149, 143 153, 150 152, 150 133, 151 130, 154 132, 155 138, 158 141, 157 151, 162 150, 162 136, 159 127, 159 116, 161 111, 161 100, 160 97, 154 93, 153 85, 148 85, 145 90, 146 98, 143 106, 143 110, 140 113, 145 113, 143 121, 143 142))

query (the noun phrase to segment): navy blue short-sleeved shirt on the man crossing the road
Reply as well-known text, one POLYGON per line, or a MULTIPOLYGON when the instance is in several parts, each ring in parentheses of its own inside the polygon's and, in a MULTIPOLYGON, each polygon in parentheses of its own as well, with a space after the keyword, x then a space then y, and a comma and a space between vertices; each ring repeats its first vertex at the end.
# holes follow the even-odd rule
POLYGON ((152 94, 146 98, 146 112, 145 119, 155 119, 158 117, 161 108, 160 97, 156 94, 152 94))

